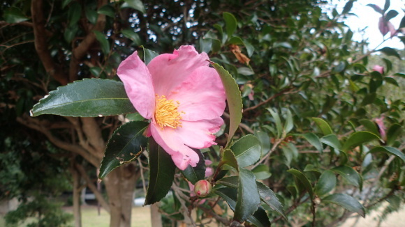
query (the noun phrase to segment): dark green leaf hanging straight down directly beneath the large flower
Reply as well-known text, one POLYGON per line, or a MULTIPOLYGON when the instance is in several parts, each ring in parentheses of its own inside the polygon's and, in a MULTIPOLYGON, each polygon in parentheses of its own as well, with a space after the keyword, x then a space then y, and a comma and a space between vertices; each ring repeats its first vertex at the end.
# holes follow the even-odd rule
POLYGON ((172 157, 154 141, 149 139, 149 185, 145 204, 149 205, 160 201, 168 194, 175 179, 176 166, 172 157))

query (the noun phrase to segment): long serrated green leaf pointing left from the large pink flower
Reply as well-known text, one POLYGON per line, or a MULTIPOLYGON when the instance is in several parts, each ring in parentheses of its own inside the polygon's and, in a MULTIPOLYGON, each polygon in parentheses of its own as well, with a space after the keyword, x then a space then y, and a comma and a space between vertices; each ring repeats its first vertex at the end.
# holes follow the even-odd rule
POLYGON ((135 112, 124 84, 110 79, 83 79, 51 91, 31 110, 31 116, 97 117, 135 112), (73 92, 74 91, 74 92, 73 92))

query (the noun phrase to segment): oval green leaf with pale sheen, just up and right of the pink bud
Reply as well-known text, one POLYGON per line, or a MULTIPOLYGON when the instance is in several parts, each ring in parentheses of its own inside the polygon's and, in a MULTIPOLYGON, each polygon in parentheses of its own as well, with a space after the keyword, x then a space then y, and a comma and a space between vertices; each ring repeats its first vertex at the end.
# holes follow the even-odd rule
POLYGON ((238 139, 230 150, 235 154, 237 165, 240 167, 254 164, 261 155, 260 141, 251 134, 238 139))

